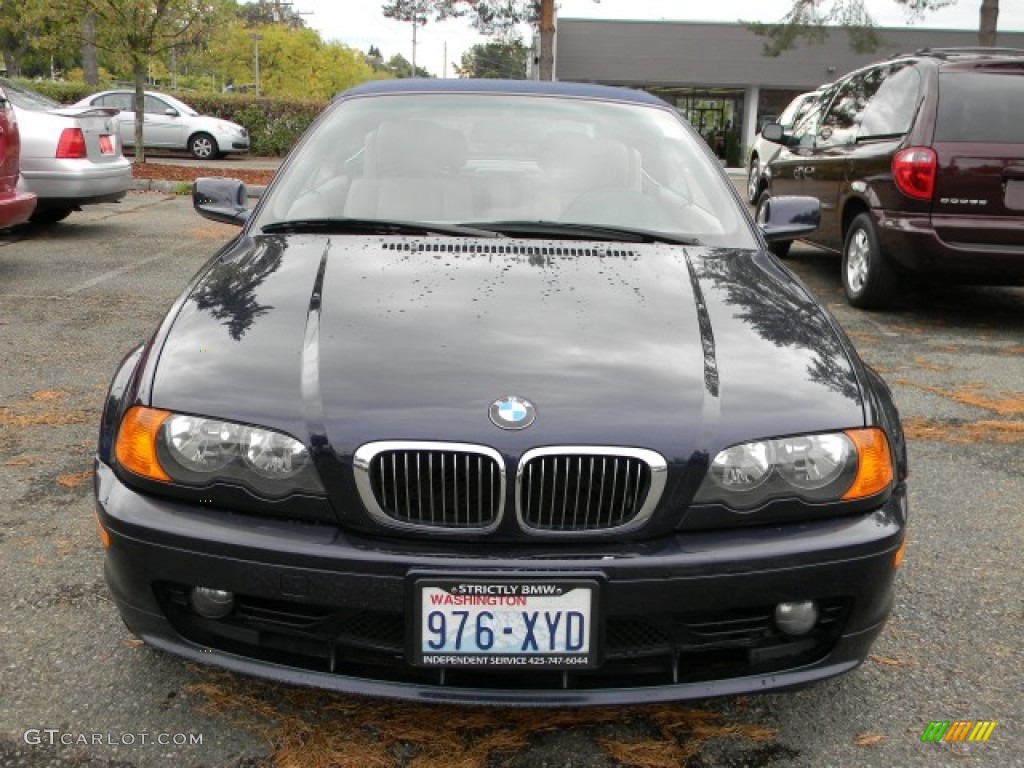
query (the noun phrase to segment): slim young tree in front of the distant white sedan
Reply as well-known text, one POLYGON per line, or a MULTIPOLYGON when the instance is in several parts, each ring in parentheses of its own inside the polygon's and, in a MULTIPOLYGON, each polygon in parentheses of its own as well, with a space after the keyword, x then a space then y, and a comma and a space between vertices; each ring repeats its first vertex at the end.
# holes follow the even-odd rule
POLYGON ((95 14, 102 43, 127 56, 135 81, 135 162, 145 162, 142 121, 150 57, 182 44, 198 44, 216 29, 226 6, 217 0, 81 0, 95 14))

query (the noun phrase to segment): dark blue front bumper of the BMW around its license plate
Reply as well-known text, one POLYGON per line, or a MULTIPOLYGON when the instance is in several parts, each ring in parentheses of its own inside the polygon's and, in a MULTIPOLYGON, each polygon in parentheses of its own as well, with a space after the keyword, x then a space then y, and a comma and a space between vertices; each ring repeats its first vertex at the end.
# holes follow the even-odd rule
POLYGON ((129 629, 197 662, 290 683, 421 701, 620 705, 805 685, 855 668, 892 604, 905 496, 846 519, 611 546, 494 547, 352 537, 137 494, 96 465, 106 580, 129 629), (599 585, 601 664, 569 672, 408 662, 416 575, 584 578, 599 585), (190 586, 236 611, 199 616, 190 586), (782 635, 781 601, 818 626, 782 635))

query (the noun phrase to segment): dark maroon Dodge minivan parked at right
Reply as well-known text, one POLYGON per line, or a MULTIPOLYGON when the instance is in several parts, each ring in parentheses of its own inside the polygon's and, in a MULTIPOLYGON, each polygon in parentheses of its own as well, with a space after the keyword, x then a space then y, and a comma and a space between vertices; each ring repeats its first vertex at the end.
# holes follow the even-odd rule
MULTIPOLYGON (((935 49, 857 70, 793 129, 762 201, 809 195, 851 304, 903 276, 1024 284, 1024 50, 935 49)), ((784 254, 787 244, 775 244, 784 254)))

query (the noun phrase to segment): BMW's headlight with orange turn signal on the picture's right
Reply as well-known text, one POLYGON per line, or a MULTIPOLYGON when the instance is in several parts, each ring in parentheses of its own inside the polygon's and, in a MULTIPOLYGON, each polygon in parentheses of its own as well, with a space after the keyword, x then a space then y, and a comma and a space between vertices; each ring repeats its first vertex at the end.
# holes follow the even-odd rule
POLYGON ((756 440, 719 452, 694 499, 748 510, 776 498, 807 502, 860 499, 893 479, 889 442, 880 429, 756 440))

